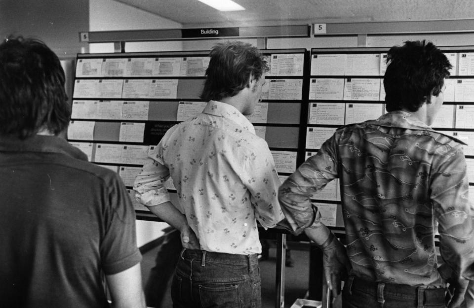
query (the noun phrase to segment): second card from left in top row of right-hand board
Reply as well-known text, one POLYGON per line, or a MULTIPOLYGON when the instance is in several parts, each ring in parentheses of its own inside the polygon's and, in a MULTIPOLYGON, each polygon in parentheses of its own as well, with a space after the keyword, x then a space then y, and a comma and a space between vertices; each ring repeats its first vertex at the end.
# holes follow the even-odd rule
POLYGON ((346 75, 378 76, 380 73, 380 54, 348 54, 346 75))

